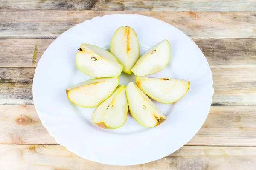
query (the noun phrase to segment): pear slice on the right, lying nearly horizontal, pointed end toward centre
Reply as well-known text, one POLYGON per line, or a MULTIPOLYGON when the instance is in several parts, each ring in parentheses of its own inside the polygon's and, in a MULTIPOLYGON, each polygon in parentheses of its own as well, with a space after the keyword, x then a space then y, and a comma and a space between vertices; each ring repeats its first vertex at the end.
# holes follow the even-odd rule
POLYGON ((176 102, 189 90, 186 80, 135 77, 135 81, 145 94, 160 103, 176 102))

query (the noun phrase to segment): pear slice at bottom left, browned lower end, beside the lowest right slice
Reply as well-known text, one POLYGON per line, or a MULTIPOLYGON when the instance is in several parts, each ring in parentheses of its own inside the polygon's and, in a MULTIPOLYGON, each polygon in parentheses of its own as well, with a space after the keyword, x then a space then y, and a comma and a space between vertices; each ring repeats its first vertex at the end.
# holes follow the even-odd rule
POLYGON ((93 112, 93 123, 105 129, 116 129, 126 122, 127 112, 125 86, 119 85, 114 93, 93 112))

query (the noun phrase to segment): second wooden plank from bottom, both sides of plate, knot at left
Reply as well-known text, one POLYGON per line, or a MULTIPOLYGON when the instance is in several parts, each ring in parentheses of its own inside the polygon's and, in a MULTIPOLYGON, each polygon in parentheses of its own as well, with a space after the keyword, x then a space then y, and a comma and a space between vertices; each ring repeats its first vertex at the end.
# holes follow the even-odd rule
MULTIPOLYGON (((212 106, 186 145, 256 146, 256 106, 212 106)), ((0 105, 0 144, 57 144, 33 105, 0 105)))

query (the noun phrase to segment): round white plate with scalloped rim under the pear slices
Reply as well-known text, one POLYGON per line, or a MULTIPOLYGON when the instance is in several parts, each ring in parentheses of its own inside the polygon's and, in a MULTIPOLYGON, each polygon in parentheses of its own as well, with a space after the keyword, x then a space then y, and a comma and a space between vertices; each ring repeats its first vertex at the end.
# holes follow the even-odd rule
MULTIPOLYGON (((134 74, 120 75, 120 84, 134 82, 134 74)), ((86 20, 61 34, 47 48, 35 71, 33 98, 43 125, 68 150, 91 161, 111 165, 135 165, 163 158, 186 144, 206 119, 212 103, 212 73, 198 46, 177 28, 136 14, 113 14, 86 20), (149 77, 190 81, 188 93, 174 104, 154 102, 167 119, 145 128, 130 115, 121 128, 105 130, 92 123, 95 108, 71 103, 65 89, 92 77, 78 70, 75 54, 81 43, 109 50, 120 26, 134 28, 143 54, 167 39, 171 59, 164 70, 149 77)))

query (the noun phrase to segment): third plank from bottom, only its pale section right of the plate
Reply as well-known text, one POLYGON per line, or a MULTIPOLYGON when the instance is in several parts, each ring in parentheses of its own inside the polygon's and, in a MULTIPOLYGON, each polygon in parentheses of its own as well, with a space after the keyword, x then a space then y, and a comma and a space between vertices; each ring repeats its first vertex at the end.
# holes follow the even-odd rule
POLYGON ((256 68, 212 68, 213 105, 255 105, 256 68))

